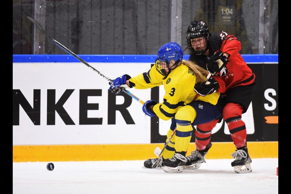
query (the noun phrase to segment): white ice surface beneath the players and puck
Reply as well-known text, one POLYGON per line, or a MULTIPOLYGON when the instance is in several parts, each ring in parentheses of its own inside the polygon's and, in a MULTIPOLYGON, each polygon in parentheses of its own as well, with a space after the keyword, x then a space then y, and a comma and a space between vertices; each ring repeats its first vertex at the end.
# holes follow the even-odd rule
POLYGON ((237 174, 233 159, 208 159, 199 169, 166 173, 146 169, 142 160, 12 162, 13 193, 259 194, 278 193, 279 159, 253 159, 253 172, 237 174))

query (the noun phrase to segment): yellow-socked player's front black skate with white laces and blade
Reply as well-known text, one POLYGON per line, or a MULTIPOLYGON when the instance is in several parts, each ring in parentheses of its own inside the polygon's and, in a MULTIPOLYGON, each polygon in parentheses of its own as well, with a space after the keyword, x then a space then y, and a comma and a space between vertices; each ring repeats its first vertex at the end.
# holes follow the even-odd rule
POLYGON ((164 171, 170 173, 182 172, 186 162, 186 152, 175 152, 172 158, 164 161, 164 171))

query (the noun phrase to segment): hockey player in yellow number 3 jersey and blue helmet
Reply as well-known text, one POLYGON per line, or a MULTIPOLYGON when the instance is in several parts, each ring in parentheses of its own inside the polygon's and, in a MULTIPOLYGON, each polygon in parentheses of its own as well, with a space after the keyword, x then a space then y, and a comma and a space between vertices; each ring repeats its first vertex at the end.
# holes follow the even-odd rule
MULTIPOLYGON (((212 87, 206 96, 198 95, 194 86, 196 83, 204 82, 208 72, 199 67, 195 62, 183 60, 183 50, 175 42, 163 45, 157 54, 155 66, 148 72, 131 78, 129 75, 122 75, 113 80, 109 90, 115 94, 121 92, 121 87, 135 89, 148 89, 163 85, 165 95, 163 101, 157 103, 148 100, 142 106, 142 111, 152 117, 160 119, 172 119, 171 129, 167 137, 173 132, 176 133, 169 143, 169 149, 165 150, 159 158, 159 165, 164 166, 165 172, 182 172, 185 165, 186 152, 192 136, 193 126, 210 122, 222 114, 222 107, 219 99, 218 88, 212 87), (172 148, 172 149, 171 149, 172 148)), ((216 86, 215 80, 209 79, 209 85, 216 86)), ((151 168, 151 159, 145 162, 146 168, 151 168), (149 163, 147 163, 147 161, 149 163)))

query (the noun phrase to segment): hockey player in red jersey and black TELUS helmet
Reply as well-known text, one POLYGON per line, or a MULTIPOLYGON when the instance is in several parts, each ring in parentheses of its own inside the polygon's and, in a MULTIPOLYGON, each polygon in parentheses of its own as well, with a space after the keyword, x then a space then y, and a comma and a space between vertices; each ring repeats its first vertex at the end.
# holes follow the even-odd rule
MULTIPOLYGON (((199 20, 190 23, 187 30, 188 49, 191 51, 189 60, 212 73, 218 82, 215 85, 200 83, 195 85, 195 91, 202 96, 211 94, 213 89, 223 94, 223 119, 226 121, 236 151, 232 153, 235 159, 231 166, 235 172, 252 172, 252 162, 247 148, 246 126, 242 114, 248 109, 255 92, 255 75, 239 54, 241 43, 234 35, 218 31, 210 33, 206 22, 199 20), (227 59, 226 59, 227 58, 227 59), (219 68, 216 60, 226 62, 219 68), (218 86, 219 85, 219 86, 218 86), (243 168, 243 166, 245 166, 243 168)), ((196 150, 187 157, 184 168, 197 169, 205 162, 205 155, 211 147, 211 130, 219 120, 197 125, 196 150)))

